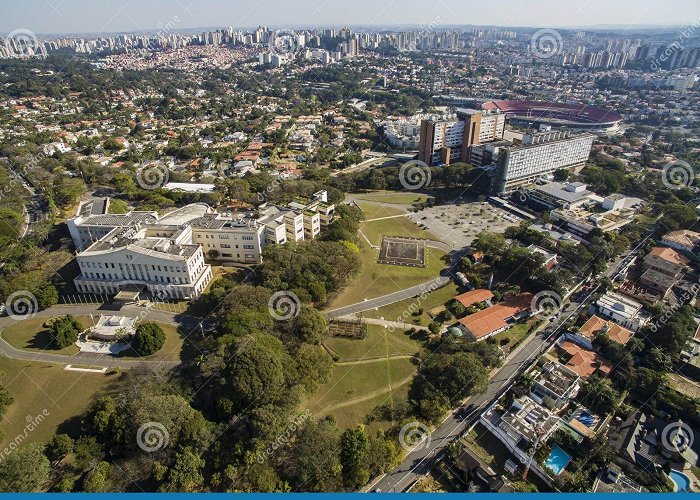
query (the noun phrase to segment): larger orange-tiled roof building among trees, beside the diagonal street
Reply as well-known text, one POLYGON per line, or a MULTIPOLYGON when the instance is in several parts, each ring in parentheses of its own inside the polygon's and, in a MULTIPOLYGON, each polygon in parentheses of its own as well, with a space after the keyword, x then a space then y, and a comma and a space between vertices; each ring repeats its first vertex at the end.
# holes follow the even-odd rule
POLYGON ((472 340, 485 340, 502 332, 515 321, 530 315, 531 293, 508 297, 503 302, 482 309, 459 320, 459 324, 472 340))

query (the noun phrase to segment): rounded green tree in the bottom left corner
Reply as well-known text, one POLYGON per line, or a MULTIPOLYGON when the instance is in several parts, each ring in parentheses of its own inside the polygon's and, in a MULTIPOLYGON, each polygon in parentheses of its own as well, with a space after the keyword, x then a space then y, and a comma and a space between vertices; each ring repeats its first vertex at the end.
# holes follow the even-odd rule
POLYGON ((0 492, 26 493, 40 490, 49 479, 51 464, 40 444, 22 446, 0 461, 0 492))

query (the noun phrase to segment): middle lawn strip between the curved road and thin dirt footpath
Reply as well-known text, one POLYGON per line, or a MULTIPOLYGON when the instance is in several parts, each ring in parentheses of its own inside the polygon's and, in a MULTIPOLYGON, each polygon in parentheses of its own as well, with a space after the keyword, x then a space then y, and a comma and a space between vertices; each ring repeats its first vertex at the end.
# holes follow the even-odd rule
POLYGON ((390 331, 379 325, 367 326, 367 337, 349 339, 333 337, 323 344, 336 353, 340 362, 373 359, 381 356, 416 354, 421 344, 400 330, 390 331))

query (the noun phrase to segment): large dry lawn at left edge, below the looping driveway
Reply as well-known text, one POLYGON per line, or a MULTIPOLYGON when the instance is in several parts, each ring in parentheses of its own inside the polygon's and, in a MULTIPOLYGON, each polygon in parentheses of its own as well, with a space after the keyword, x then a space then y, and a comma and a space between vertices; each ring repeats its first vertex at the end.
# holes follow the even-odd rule
POLYGON ((79 422, 74 417, 95 398, 117 392, 120 386, 118 374, 72 372, 63 365, 0 358, 0 370, 5 374, 2 383, 15 400, 0 422, 4 432, 0 449, 24 435, 27 416, 48 414, 24 442, 46 443, 59 425, 61 432, 77 430, 79 422))

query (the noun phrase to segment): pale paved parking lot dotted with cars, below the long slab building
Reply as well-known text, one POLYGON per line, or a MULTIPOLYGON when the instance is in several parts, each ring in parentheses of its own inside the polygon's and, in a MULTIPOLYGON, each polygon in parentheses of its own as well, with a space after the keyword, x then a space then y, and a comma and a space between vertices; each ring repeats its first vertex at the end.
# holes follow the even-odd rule
POLYGON ((471 244, 482 231, 503 233, 520 224, 520 218, 486 202, 440 205, 408 216, 448 245, 457 248, 471 244))

